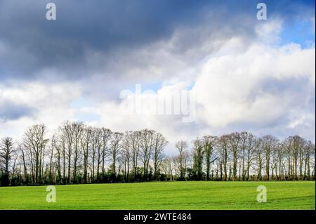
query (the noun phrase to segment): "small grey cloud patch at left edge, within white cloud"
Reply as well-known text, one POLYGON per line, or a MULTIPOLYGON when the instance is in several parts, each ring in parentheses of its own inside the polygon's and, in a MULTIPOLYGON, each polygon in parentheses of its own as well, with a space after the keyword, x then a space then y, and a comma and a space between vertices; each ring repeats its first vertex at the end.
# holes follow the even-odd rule
POLYGON ((8 100, 0 102, 0 120, 15 120, 20 117, 32 116, 33 113, 34 109, 26 105, 18 105, 8 100))

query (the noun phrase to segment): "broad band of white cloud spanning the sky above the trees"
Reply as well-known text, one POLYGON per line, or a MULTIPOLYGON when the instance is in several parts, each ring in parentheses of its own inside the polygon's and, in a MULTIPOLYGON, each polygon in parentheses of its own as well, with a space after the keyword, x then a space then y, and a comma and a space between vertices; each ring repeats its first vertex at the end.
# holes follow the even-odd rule
MULTIPOLYGON (((310 48, 298 44, 277 46, 275 41, 281 29, 282 22, 265 23, 257 29, 261 32, 256 40, 249 42, 236 35, 229 40, 224 38, 225 41, 211 37, 198 39, 199 44, 185 50, 178 42, 183 42, 187 33, 201 30, 179 29, 169 41, 129 52, 117 51, 105 66, 111 68, 110 72, 104 74, 53 84, 0 84, 0 101, 11 100, 35 109, 33 117, 0 121, 0 136, 20 138, 27 126, 41 122, 54 130, 65 119, 75 119, 82 113, 98 115, 87 124, 113 131, 157 130, 171 143, 171 154, 177 140, 190 142, 197 136, 220 135, 244 127, 258 135, 285 137, 298 133, 315 141, 315 44, 310 48), (121 105, 134 98, 120 102, 121 88, 152 80, 162 84, 157 91, 162 95, 190 88, 193 82, 197 100, 195 122, 183 123, 178 115, 124 113, 121 105), (93 103, 72 107, 72 102, 81 97, 93 103)), ((0 51, 1 48, 0 45, 0 51)), ((150 94, 143 95, 148 105, 144 110, 155 103, 153 99, 150 94)))

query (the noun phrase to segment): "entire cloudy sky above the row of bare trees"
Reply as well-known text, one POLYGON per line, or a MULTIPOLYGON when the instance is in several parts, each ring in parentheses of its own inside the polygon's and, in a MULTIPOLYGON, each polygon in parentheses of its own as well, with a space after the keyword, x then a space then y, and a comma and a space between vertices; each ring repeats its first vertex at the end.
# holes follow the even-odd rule
POLYGON ((259 2, 0 0, 0 138, 70 120, 154 129, 166 154, 232 131, 315 143, 315 1, 262 1, 267 20, 259 2), (178 93, 190 110, 157 112, 178 93))

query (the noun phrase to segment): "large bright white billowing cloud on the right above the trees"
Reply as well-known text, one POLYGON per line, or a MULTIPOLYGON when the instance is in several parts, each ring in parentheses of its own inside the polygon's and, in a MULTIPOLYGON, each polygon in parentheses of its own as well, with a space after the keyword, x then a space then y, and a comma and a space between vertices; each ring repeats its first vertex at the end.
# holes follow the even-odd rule
MULTIPOLYGON (((313 114, 315 47, 254 43, 243 52, 230 49, 230 53, 210 58, 193 86, 200 105, 197 114, 209 126, 224 129, 248 124, 251 129, 270 128, 273 133, 280 122, 293 122, 291 114, 298 120, 313 114), (298 115, 302 108, 305 111, 298 115)), ((308 137, 315 139, 315 131, 306 128, 308 137)))

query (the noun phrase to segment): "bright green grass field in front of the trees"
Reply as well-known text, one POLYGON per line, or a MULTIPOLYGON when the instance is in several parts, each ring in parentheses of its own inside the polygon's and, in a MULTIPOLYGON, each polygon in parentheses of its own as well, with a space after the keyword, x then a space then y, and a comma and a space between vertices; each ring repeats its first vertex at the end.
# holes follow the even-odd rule
POLYGON ((0 187, 0 209, 315 209, 315 182, 152 182, 0 187), (258 203, 258 185, 268 190, 258 203))

